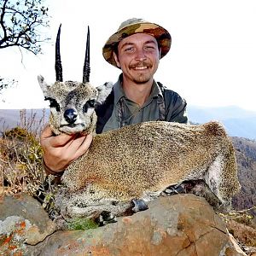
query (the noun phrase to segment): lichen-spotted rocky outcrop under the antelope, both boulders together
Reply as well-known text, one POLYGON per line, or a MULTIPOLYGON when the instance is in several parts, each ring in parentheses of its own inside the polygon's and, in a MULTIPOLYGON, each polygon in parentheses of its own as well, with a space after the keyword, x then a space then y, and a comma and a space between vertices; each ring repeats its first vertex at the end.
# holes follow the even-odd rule
POLYGON ((54 224, 37 201, 7 196, 0 203, 0 255, 245 255, 203 198, 172 195, 148 207, 95 230, 51 234, 54 224))

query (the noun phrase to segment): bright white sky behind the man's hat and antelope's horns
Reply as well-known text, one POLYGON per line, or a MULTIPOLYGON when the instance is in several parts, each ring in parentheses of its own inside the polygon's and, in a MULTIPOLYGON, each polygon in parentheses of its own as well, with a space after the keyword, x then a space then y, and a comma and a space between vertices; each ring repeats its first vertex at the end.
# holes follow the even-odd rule
POLYGON ((170 52, 154 79, 177 91, 188 105, 234 106, 256 111, 256 1, 47 0, 50 11, 43 55, 0 50, 0 75, 18 84, 0 95, 0 108, 47 108, 37 76, 55 82, 55 36, 61 26, 64 80, 82 80, 90 26, 90 82, 115 82, 120 70, 102 57, 102 46, 124 20, 137 17, 164 26, 170 52))

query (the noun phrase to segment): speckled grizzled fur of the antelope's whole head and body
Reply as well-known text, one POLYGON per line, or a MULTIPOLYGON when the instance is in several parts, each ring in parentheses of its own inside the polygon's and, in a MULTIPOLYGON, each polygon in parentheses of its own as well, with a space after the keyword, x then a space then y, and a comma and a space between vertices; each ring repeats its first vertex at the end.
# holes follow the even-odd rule
MULTIPOLYGON (((96 90, 89 83, 49 86, 42 77, 38 81, 44 96, 55 99, 60 108, 52 106, 49 119, 56 134, 95 130, 94 108, 84 113, 83 106, 91 99, 102 102, 111 84, 96 90), (71 106, 79 113, 77 127, 63 121, 63 112, 71 106)), ((65 187, 55 203, 66 218, 97 218, 102 212, 120 216, 132 207, 132 199, 150 201, 170 185, 188 180, 207 184, 214 207, 229 206, 240 189, 234 148, 218 122, 151 121, 95 135, 89 151, 68 166, 61 180, 65 187)))

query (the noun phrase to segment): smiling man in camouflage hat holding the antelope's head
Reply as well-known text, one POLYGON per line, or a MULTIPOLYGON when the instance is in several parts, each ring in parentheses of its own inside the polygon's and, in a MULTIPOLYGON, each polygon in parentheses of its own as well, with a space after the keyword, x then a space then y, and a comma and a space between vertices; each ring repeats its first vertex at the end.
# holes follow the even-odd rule
MULTIPOLYGON (((106 61, 121 69, 113 91, 96 109, 96 132, 149 120, 188 123, 186 102, 154 81, 159 61, 171 48, 165 28, 142 19, 125 20, 103 46, 106 61)), ((49 127, 41 135, 44 169, 61 176, 67 166, 90 147, 92 135, 53 136, 49 127)))

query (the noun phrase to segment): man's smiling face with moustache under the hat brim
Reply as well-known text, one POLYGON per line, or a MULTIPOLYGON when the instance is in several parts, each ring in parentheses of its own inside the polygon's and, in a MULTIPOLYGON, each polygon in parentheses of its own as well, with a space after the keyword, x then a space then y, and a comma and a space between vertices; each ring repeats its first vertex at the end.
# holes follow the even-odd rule
POLYGON ((120 41, 114 59, 121 68, 124 79, 136 84, 153 79, 159 65, 160 51, 153 36, 143 33, 131 35, 120 41))

